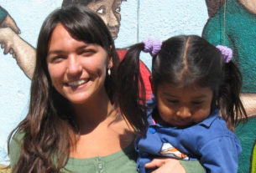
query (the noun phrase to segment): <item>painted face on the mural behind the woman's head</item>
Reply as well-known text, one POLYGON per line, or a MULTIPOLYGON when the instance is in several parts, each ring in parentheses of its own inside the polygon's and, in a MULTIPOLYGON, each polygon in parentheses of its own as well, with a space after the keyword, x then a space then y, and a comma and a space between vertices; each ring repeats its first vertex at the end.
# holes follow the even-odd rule
POLYGON ((103 19, 113 39, 118 38, 121 3, 122 0, 99 0, 92 1, 87 5, 88 8, 96 12, 103 19))

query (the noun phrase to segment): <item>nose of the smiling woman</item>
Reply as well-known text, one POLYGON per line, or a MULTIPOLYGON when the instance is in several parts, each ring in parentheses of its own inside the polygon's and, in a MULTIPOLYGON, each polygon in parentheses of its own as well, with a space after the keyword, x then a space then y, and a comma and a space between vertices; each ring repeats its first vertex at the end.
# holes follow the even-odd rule
POLYGON ((66 68, 67 74, 76 75, 81 73, 81 70, 82 66, 79 59, 77 59, 74 55, 69 56, 66 68))

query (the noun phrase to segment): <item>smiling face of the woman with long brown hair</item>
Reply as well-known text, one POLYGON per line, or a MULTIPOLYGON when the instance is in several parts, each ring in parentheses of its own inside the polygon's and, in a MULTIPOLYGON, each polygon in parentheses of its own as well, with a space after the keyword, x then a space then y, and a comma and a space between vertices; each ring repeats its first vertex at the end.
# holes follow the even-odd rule
POLYGON ((58 24, 50 38, 47 65, 55 89, 72 104, 82 104, 106 92, 112 61, 104 48, 72 38, 58 24))

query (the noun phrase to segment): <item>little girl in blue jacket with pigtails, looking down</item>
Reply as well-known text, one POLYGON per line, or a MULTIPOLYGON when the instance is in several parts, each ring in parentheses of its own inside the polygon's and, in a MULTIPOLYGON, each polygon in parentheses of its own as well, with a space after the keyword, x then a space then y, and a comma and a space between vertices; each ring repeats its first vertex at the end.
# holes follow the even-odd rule
POLYGON ((206 172, 237 172, 241 145, 232 130, 247 114, 239 99, 241 74, 230 51, 196 35, 163 43, 148 39, 129 48, 118 68, 118 89, 123 94, 119 103, 128 117, 136 114, 148 121, 135 145, 139 172, 150 172, 154 167, 145 169, 145 164, 163 156, 200 160, 206 172), (153 56, 154 97, 146 108, 144 93, 138 92, 144 88, 138 73, 141 51, 153 56))

